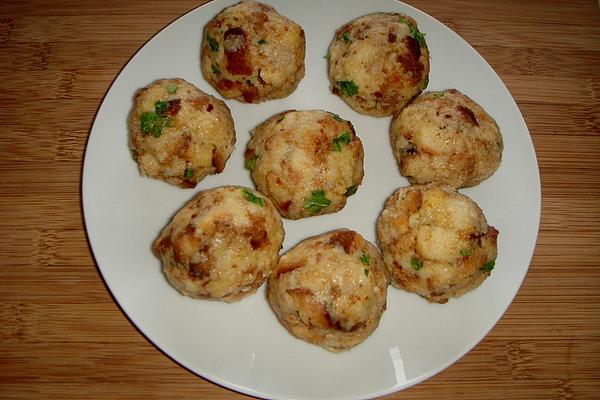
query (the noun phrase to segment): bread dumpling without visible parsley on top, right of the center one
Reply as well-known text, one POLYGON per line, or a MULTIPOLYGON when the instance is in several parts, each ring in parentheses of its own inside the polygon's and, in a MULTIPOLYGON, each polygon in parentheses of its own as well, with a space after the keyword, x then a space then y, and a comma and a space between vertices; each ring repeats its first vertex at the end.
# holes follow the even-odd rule
POLYGON ((422 94, 392 121, 390 139, 411 183, 475 186, 502 160, 496 121, 458 90, 422 94))

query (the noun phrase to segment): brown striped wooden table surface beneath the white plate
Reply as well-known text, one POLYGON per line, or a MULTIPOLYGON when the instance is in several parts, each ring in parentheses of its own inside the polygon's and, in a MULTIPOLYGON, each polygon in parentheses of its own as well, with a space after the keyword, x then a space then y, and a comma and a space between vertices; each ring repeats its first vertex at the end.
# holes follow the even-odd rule
MULTIPOLYGON (((94 263, 81 211, 111 82, 189 0, 0 3, 0 398, 245 396, 165 356, 94 263)), ((460 361, 388 399, 600 398, 600 11, 596 1, 410 1, 473 45, 515 97, 543 207, 531 267, 460 361)))

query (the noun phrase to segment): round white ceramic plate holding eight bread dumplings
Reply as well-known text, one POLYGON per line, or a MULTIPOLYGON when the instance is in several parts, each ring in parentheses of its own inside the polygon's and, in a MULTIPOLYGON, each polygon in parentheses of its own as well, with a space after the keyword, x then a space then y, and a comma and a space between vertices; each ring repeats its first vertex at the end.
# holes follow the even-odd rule
POLYGON ((113 83, 94 122, 85 156, 83 205, 90 243, 108 287, 131 321, 156 346, 193 372, 259 397, 358 399, 401 390, 451 365, 502 316, 527 272, 540 216, 540 183, 529 132, 510 93, 483 58, 450 29, 394 0, 266 0, 306 32, 306 76, 288 98, 263 104, 227 101, 237 147, 225 171, 196 189, 142 178, 130 156, 126 119, 134 92, 155 79, 182 77, 218 95, 202 78, 199 49, 204 25, 236 0, 197 8, 153 37, 113 83), (168 285, 150 245, 171 216, 203 189, 252 186, 243 168, 249 131, 286 109, 325 109, 352 121, 365 147, 365 178, 334 215, 285 221, 284 251, 301 239, 348 227, 375 242, 385 199, 407 181, 388 139, 390 119, 352 111, 329 91, 323 56, 337 27, 375 11, 415 18, 431 51, 429 89, 457 88, 481 104, 504 135, 499 170, 464 190, 500 230, 491 277, 445 305, 390 287, 388 309, 364 343, 332 354, 293 338, 259 292, 236 304, 193 300, 168 285))

